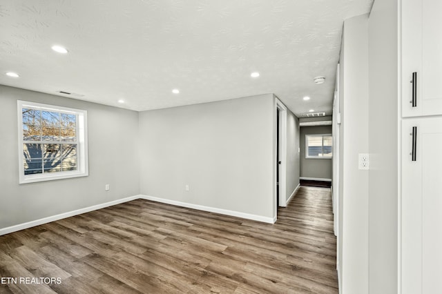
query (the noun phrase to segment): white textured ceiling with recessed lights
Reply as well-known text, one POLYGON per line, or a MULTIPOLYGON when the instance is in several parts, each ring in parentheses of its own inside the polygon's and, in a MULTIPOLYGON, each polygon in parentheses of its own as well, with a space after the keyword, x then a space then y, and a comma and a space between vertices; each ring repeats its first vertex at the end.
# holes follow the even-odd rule
POLYGON ((298 116, 309 109, 329 115, 343 20, 371 6, 372 0, 1 0, 0 84, 74 92, 84 95, 76 99, 132 110, 274 93, 298 116), (54 44, 69 53, 53 52, 54 44), (251 78, 254 71, 260 77, 251 78), (316 76, 325 83, 314 84, 316 76), (311 99, 303 101, 305 95, 311 99))

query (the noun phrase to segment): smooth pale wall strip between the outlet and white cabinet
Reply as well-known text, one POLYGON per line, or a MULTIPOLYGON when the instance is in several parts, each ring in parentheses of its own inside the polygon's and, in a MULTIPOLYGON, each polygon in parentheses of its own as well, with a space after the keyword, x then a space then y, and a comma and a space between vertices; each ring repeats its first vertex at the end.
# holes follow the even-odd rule
POLYGON ((397 293, 397 1, 369 17, 369 293, 397 293))

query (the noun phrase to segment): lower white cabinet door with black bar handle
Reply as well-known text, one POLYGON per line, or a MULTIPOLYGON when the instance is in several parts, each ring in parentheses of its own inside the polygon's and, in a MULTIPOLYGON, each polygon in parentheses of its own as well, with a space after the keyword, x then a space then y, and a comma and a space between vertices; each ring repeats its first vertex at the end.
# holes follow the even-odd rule
POLYGON ((401 199, 403 294, 442 293, 441 185, 442 117, 404 119, 401 199))

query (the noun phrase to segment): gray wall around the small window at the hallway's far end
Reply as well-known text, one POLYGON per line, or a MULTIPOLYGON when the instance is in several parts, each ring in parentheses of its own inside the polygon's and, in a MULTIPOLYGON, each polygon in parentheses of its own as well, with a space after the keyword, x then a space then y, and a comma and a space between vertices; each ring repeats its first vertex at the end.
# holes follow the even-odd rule
POLYGON ((332 126, 300 127, 300 176, 320 179, 332 179, 332 159, 305 158, 305 135, 332 134, 332 126))

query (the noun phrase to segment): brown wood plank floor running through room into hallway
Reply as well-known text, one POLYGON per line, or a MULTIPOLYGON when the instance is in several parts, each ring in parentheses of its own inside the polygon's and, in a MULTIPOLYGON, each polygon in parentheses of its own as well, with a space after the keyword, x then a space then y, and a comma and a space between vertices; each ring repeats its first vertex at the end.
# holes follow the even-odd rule
POLYGON ((0 236, 0 293, 338 293, 332 230, 328 188, 276 224, 137 199, 0 236))

